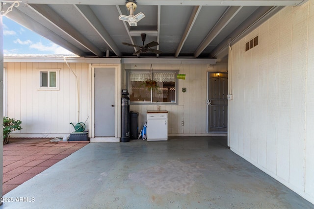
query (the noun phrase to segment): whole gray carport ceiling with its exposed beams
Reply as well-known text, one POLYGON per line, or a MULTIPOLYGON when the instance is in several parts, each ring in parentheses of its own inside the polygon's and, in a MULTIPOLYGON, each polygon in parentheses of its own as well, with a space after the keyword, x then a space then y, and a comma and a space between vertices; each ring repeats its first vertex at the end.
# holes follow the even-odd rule
MULTIPOLYGON (((7 17, 81 57, 225 58, 229 43, 252 31, 286 5, 303 0, 137 0, 134 14, 145 18, 131 27, 125 0, 22 0, 7 17), (159 55, 141 53, 157 41, 159 55)), ((3 5, 4 9, 12 3, 3 5)))

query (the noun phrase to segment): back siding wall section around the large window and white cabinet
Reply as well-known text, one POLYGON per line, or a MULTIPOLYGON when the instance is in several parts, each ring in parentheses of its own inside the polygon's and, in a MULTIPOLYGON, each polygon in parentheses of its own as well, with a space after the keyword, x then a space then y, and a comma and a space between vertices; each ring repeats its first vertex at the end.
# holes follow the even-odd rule
MULTIPOLYGON (((149 70, 150 64, 126 64, 126 70, 149 70)), ((168 135, 169 136, 201 136, 206 134, 206 99, 207 99, 207 72, 227 71, 227 64, 215 67, 209 65, 194 64, 154 64, 153 70, 180 70, 185 74, 185 80, 178 79, 179 89, 177 93, 178 105, 160 105, 160 110, 168 113, 168 135), (182 92, 182 88, 186 92, 182 92), (184 126, 182 126, 184 121, 184 126)), ((131 105, 131 111, 139 113, 139 129, 146 121, 147 110, 157 110, 157 105, 131 105)))

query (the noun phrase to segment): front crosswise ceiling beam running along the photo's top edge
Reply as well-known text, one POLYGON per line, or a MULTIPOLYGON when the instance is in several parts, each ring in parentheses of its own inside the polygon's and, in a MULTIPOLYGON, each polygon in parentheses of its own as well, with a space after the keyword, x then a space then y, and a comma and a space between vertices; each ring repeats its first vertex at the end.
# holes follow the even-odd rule
MULTIPOLYGON (((308 0, 140 0, 140 5, 183 6, 289 6, 308 0)), ((125 5, 126 0, 22 0, 28 4, 125 5)))

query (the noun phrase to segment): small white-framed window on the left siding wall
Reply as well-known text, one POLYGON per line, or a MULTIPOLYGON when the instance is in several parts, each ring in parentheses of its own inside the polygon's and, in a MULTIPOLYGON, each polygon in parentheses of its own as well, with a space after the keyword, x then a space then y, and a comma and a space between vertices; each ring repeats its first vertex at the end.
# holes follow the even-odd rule
POLYGON ((40 70, 40 90, 58 90, 58 70, 40 70))

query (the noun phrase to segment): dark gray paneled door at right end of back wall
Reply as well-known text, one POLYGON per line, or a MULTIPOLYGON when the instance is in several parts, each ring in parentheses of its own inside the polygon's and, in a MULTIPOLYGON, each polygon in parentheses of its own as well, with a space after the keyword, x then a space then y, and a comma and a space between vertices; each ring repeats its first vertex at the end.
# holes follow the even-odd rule
POLYGON ((228 73, 208 72, 207 132, 227 132, 228 73))

